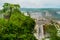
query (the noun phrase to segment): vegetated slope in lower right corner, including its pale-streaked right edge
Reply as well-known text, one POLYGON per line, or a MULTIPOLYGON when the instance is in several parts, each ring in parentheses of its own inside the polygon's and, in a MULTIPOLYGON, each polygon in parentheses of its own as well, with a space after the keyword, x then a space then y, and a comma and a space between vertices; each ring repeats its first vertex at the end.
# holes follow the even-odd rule
POLYGON ((58 33, 58 30, 60 28, 60 25, 58 23, 55 22, 51 22, 50 24, 45 24, 45 33, 49 34, 49 39, 50 40, 60 40, 60 35, 58 33))

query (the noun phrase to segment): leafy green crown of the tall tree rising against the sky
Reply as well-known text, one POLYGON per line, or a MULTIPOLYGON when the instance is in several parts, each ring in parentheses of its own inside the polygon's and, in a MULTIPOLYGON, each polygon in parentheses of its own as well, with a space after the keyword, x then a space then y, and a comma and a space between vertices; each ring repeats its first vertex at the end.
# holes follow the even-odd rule
POLYGON ((13 12, 14 10, 20 10, 20 6, 18 4, 10 4, 10 3, 4 3, 3 5, 3 12, 9 13, 13 12))

